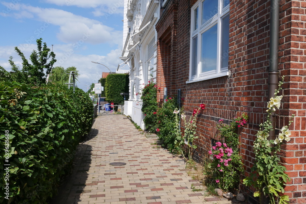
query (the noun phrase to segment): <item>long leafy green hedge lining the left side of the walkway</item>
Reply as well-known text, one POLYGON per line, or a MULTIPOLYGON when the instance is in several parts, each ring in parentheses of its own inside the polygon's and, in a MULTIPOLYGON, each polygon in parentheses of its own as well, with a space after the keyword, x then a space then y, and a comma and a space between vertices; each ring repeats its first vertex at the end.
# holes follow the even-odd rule
POLYGON ((78 88, 73 94, 55 85, 3 81, 0 97, 0 202, 45 203, 70 170, 81 137, 91 129, 92 102, 78 88), (8 181, 4 164, 10 165, 8 181))

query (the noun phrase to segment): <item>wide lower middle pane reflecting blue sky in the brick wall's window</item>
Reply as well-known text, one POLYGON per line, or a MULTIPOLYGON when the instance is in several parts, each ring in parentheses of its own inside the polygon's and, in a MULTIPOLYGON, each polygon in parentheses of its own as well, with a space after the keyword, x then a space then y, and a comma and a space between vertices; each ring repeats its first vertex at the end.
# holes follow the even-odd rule
POLYGON ((217 69, 218 24, 202 34, 202 73, 217 69))

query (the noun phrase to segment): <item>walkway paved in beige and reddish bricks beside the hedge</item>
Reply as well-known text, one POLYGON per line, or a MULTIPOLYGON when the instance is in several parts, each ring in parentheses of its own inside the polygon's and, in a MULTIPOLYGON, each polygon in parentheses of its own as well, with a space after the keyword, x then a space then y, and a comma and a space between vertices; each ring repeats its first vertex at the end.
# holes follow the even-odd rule
POLYGON ((155 142, 125 116, 99 116, 79 146, 71 176, 51 203, 232 203, 193 192, 191 185, 198 188, 200 183, 187 176, 184 161, 156 148, 155 142))

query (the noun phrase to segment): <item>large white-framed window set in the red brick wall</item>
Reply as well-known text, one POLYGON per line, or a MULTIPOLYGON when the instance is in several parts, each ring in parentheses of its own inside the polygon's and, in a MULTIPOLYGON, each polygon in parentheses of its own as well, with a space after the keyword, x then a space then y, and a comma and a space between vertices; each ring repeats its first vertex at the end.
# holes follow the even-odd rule
POLYGON ((228 75, 230 0, 192 6, 189 82, 228 75))

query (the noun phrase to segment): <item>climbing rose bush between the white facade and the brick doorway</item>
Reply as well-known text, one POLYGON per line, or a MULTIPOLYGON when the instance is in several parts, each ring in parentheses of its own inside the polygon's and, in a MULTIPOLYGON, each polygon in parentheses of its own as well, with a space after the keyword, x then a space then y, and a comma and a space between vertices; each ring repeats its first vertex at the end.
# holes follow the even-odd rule
POLYGON ((155 133, 157 129, 157 86, 153 81, 149 81, 141 91, 142 107, 141 111, 144 113, 144 126, 151 132, 155 133))

